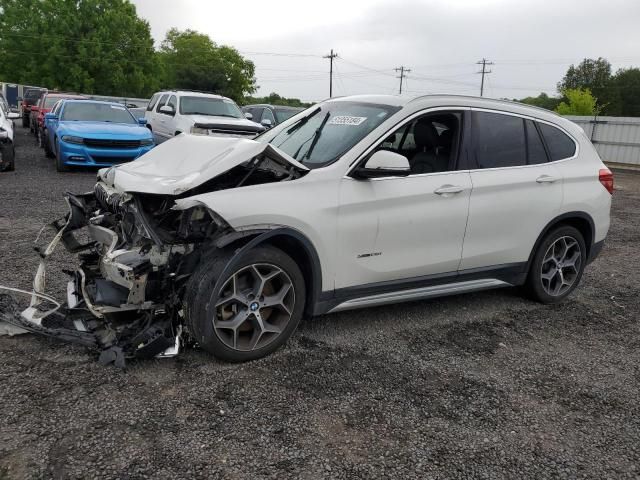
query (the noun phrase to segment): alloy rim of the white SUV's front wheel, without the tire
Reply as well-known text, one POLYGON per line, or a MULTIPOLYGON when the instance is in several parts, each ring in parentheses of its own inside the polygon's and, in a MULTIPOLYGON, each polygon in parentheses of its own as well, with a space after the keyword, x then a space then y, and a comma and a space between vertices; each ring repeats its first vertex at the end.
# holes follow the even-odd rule
POLYGON ((295 289, 284 270, 268 263, 248 265, 222 287, 215 304, 214 330, 229 348, 257 350, 286 329, 294 305, 295 289))

